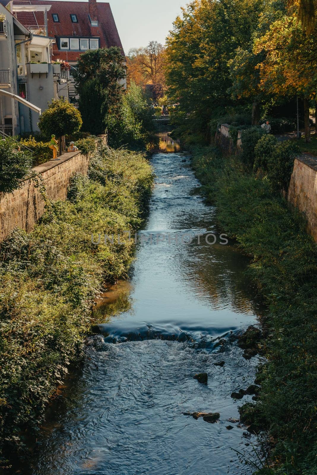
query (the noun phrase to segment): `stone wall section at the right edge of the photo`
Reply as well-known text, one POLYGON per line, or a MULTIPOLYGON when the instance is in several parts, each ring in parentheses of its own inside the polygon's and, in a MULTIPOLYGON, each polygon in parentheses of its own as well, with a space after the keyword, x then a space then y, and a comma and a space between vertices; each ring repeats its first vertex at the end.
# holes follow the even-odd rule
POLYGON ((294 161, 289 183, 288 200, 302 211, 308 232, 317 241, 317 158, 301 155, 294 161))

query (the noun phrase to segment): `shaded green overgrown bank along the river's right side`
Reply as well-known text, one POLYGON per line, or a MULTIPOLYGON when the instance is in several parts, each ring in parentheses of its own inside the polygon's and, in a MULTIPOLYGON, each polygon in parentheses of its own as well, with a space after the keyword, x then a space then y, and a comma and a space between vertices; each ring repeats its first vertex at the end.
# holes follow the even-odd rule
MULTIPOLYGON (((271 473, 316 473, 317 247, 304 219, 269 180, 212 147, 193 147, 192 166, 221 229, 252 255, 248 273, 270 313, 261 393, 251 409, 265 420, 271 473), (315 440, 315 442, 314 442, 315 440)), ((264 472, 263 472, 264 473, 264 472)), ((268 473, 266 471, 265 473, 268 473)))

